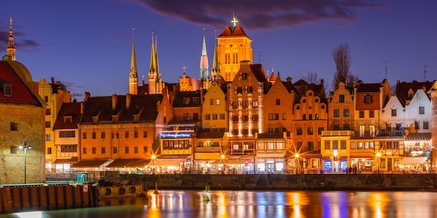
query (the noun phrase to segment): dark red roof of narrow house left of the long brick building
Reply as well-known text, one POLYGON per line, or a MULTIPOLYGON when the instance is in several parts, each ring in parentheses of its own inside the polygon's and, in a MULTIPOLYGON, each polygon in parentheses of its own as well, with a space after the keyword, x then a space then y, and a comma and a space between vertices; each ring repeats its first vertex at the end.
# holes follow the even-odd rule
POLYGON ((53 129, 77 129, 77 124, 80 122, 82 114, 81 102, 64 102, 62 103, 61 109, 59 109, 58 117, 54 121, 53 129), (71 116, 71 122, 66 123, 64 117, 71 116))

